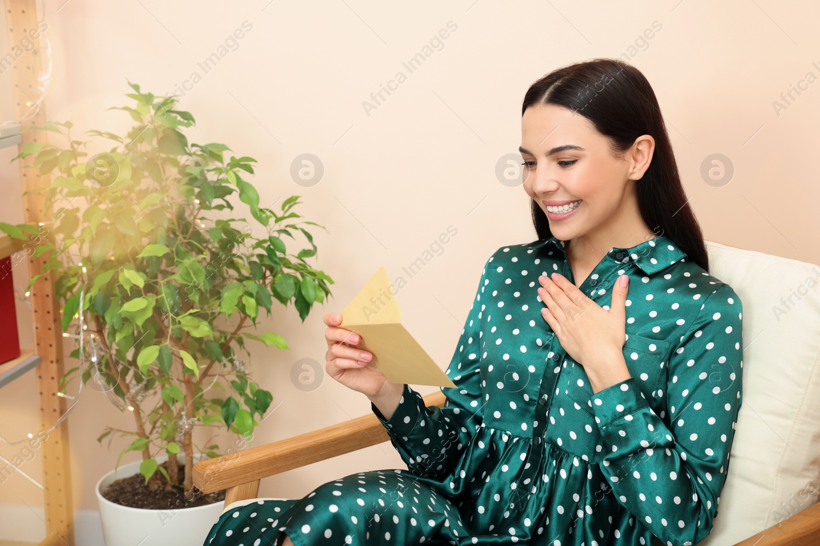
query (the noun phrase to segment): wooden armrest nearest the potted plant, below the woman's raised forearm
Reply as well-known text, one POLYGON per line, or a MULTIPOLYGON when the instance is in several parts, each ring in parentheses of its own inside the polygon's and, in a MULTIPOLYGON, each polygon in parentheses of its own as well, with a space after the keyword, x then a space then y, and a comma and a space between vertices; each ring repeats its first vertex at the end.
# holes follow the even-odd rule
MULTIPOLYGON (((444 393, 441 390, 424 397, 424 403, 428 407, 441 407, 444 400, 444 393)), ((257 482, 258 488, 258 481, 264 477, 387 440, 389 435, 385 431, 385 426, 376 415, 370 413, 293 438, 200 461, 194 465, 194 485, 204 493, 239 486, 243 486, 244 490, 253 490, 253 483, 257 482)), ((242 496, 245 495, 247 493, 242 496)), ((235 492, 229 496, 233 498, 235 492)), ((226 498, 225 504, 227 503, 226 498)))

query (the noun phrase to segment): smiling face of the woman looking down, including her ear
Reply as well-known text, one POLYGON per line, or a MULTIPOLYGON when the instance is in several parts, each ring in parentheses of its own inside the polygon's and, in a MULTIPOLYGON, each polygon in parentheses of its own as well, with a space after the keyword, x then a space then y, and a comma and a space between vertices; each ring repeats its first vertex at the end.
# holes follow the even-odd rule
POLYGON ((643 227, 635 180, 649 167, 654 139, 645 135, 624 154, 612 155, 608 138, 568 108, 537 105, 522 117, 524 190, 544 210, 555 237, 643 227), (579 202, 580 201, 580 202, 579 202))

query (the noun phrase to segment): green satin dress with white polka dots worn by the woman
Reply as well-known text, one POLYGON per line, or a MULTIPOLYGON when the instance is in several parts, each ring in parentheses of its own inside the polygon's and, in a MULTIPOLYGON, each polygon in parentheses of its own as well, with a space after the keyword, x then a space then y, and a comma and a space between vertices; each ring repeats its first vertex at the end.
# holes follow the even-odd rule
POLYGON ((742 401, 742 304, 666 236, 613 248, 581 284, 609 308, 630 276, 631 377, 593 394, 541 316, 541 274, 571 281, 565 241, 487 260, 442 390, 405 385, 385 419, 408 470, 344 476, 303 499, 225 512, 205 546, 666 544, 712 530, 742 401), (656 538, 657 537, 657 538, 656 538))

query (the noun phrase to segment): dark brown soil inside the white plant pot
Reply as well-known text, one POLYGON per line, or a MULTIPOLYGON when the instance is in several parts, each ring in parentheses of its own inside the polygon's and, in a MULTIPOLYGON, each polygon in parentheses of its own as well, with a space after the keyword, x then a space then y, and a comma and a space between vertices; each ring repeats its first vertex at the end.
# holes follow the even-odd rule
MULTIPOLYGON (((162 463, 161 467, 166 467, 162 463)), ((179 476, 185 476, 185 465, 179 465, 179 476)), ((203 493, 194 487, 194 499, 185 500, 182 485, 168 489, 164 476, 157 472, 154 477, 145 483, 142 474, 134 474, 120 478, 108 485, 102 494, 112 503, 129 506, 130 508, 144 508, 147 510, 166 510, 168 508, 194 508, 205 504, 218 503, 225 500, 225 490, 216 493, 203 493), (158 479, 155 479, 158 478, 158 479)))

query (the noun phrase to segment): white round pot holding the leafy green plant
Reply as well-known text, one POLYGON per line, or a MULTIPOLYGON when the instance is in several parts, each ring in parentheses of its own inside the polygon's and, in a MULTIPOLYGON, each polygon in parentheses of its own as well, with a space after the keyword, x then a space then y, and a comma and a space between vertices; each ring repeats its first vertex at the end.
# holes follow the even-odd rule
MULTIPOLYGON (((157 457, 157 463, 166 459, 157 457)), ((139 474, 140 463, 124 464, 116 472, 108 472, 94 489, 107 546, 203 546, 208 531, 221 516, 222 501, 194 508, 146 510, 112 503, 103 497, 102 491, 112 481, 139 474)))

